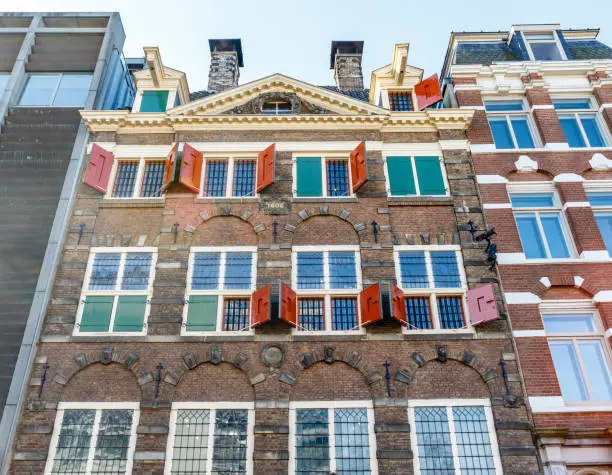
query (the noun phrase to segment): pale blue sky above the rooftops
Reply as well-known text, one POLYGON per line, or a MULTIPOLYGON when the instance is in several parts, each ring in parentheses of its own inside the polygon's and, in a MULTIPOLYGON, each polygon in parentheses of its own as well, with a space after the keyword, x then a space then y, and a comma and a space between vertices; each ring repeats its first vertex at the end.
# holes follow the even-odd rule
POLYGON ((408 63, 439 72, 451 31, 507 31, 513 23, 601 28, 612 45, 612 0, 0 0, 2 11, 118 11, 126 56, 159 46, 164 63, 187 73, 192 91, 208 82, 209 38, 241 38, 240 83, 279 72, 333 84, 332 40, 363 40, 366 84, 410 42, 408 63))

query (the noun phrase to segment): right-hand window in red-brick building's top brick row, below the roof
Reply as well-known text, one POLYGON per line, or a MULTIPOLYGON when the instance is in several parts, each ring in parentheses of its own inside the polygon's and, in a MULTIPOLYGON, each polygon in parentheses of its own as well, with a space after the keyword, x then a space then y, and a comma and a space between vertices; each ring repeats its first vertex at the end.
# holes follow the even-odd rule
POLYGON ((605 147, 602 123, 590 99, 553 101, 570 147, 605 147))

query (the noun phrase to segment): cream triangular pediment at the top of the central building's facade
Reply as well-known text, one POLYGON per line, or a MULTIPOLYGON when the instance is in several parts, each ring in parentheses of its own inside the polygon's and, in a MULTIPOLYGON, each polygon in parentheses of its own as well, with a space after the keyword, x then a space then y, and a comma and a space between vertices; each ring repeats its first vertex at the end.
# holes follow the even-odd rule
POLYGON ((258 114, 259 104, 278 97, 299 104, 298 114, 388 115, 388 111, 345 94, 273 74, 168 110, 173 115, 258 114))

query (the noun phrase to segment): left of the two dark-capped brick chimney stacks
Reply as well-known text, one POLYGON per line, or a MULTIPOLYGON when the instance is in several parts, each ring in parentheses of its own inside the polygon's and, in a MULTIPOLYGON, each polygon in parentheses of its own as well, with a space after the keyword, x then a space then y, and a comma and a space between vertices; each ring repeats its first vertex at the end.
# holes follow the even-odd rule
POLYGON ((208 90, 221 92, 238 85, 242 60, 240 39, 208 40, 210 47, 210 71, 208 90))

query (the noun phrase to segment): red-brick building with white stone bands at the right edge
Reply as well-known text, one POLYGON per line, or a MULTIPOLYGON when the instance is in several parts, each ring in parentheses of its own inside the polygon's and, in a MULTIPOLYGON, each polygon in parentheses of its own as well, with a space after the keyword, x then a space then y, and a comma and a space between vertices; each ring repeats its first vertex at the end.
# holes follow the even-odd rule
POLYGON ((546 473, 612 473, 612 49, 598 30, 453 33, 468 138, 546 473))

